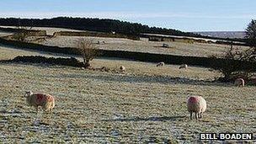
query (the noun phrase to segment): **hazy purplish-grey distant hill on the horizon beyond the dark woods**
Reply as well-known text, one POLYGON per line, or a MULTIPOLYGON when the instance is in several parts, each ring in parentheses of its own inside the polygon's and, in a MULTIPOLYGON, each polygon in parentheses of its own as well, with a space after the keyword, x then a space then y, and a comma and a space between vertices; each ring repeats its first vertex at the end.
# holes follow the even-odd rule
POLYGON ((194 32, 195 34, 217 37, 217 38, 230 38, 230 39, 243 39, 245 36, 244 31, 203 31, 203 32, 194 32))

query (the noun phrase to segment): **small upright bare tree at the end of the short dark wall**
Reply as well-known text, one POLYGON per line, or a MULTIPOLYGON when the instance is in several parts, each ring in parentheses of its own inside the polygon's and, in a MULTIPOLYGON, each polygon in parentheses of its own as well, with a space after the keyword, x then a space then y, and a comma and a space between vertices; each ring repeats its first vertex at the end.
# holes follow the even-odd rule
POLYGON ((93 44, 93 40, 81 38, 78 40, 77 48, 83 56, 84 67, 91 67, 90 61, 99 56, 99 49, 93 44))

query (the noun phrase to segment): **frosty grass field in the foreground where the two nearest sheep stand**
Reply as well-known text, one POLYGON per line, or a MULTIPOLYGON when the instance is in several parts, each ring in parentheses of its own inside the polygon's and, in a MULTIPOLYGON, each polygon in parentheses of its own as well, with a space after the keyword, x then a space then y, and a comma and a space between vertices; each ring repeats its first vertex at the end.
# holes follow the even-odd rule
MULTIPOLYGON (((0 46, 0 59, 22 55, 52 56, 0 46)), ((211 83, 220 73, 203 67, 93 60, 93 67, 120 65, 127 72, 1 63, 0 143, 208 143, 199 141, 200 132, 256 133, 255 87, 211 83), (25 104, 25 90, 53 94, 53 112, 36 114, 25 104), (191 95, 207 102, 200 120, 189 120, 191 95)))

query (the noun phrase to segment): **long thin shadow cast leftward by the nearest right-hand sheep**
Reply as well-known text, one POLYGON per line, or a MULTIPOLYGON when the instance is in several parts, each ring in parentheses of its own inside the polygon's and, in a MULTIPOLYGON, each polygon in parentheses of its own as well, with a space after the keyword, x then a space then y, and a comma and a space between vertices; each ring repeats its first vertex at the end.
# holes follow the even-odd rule
POLYGON ((173 120, 183 120, 186 116, 163 116, 163 117, 148 117, 148 118, 128 118, 128 119, 113 119, 113 120, 102 120, 102 121, 173 121, 173 120))

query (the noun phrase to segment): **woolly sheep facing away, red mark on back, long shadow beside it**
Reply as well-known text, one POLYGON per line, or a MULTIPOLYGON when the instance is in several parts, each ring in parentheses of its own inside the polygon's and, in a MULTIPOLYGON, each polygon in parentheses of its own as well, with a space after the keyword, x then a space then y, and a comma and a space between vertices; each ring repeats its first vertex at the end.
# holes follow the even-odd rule
POLYGON ((192 114, 195 113, 195 119, 202 118, 202 114, 206 109, 206 101, 201 96, 191 96, 187 101, 187 107, 190 113, 190 120, 192 120, 192 114))

